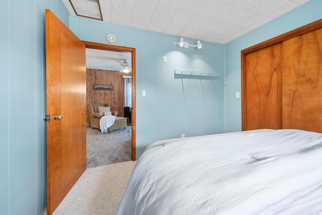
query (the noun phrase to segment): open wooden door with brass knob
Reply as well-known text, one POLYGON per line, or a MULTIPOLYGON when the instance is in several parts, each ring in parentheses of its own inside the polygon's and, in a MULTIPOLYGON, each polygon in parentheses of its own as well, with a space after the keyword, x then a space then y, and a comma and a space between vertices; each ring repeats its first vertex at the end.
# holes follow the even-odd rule
POLYGON ((86 55, 85 44, 49 10, 45 30, 46 114, 50 115, 47 214, 51 214, 86 169, 86 55))

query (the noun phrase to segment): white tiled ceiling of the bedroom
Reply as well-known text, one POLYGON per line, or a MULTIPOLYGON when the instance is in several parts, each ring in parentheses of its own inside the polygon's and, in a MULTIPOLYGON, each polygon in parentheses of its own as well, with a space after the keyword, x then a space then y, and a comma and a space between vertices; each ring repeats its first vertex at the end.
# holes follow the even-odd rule
MULTIPOLYGON (((76 1, 76 0, 74 0, 76 1)), ((77 0, 89 13, 97 8, 77 0)), ((100 0, 103 22, 226 44, 309 0, 100 0)), ((76 16, 69 0, 68 12, 76 16)), ((81 10, 81 9, 79 9, 81 10)), ((108 32, 107 32, 108 33, 108 32)))

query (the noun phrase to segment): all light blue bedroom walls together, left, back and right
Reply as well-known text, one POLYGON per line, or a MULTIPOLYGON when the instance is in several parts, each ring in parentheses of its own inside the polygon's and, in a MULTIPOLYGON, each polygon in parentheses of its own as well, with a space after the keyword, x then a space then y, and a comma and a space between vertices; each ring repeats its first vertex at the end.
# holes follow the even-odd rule
POLYGON ((112 33, 115 45, 136 48, 137 157, 155 140, 224 132, 225 119, 226 131, 240 130, 240 50, 322 18, 322 1, 311 1, 226 45, 202 41, 197 50, 177 47, 175 36, 69 17, 60 0, 2 0, 0 214, 46 207, 45 9, 82 40, 107 43, 112 33), (175 68, 226 70, 227 86, 223 78, 175 77, 175 68))

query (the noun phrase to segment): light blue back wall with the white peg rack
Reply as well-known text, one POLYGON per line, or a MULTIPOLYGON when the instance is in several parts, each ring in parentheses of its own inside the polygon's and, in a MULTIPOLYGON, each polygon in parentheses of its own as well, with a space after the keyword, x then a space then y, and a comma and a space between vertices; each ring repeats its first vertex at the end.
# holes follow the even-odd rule
MULTIPOLYGON (((180 38, 85 18, 69 18, 69 28, 84 41, 136 49, 136 157, 153 141, 224 132, 224 79, 175 77, 174 70, 224 73, 224 45, 204 42, 204 48, 180 48, 180 38), (163 63, 163 56, 168 62, 163 63), (146 90, 146 97, 141 96, 146 90)), ((196 40, 186 39, 192 44, 196 40)))

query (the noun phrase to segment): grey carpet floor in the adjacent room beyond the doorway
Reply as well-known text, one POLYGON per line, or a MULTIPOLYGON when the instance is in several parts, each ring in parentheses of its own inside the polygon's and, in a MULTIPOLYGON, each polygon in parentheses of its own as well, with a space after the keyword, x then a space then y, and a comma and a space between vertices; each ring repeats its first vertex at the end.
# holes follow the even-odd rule
POLYGON ((132 126, 120 128, 111 133, 87 127, 87 168, 115 164, 132 160, 132 126))

